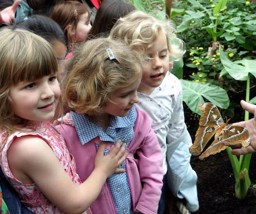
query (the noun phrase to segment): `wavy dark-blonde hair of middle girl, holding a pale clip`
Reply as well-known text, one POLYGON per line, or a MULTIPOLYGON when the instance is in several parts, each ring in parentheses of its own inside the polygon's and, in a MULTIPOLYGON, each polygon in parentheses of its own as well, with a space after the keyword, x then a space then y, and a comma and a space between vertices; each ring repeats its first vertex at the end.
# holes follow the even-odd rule
POLYGON ((141 78, 138 53, 110 38, 86 41, 67 64, 63 98, 71 110, 87 115, 103 113, 106 102, 111 102, 112 92, 141 78), (110 59, 107 49, 114 59, 110 59))

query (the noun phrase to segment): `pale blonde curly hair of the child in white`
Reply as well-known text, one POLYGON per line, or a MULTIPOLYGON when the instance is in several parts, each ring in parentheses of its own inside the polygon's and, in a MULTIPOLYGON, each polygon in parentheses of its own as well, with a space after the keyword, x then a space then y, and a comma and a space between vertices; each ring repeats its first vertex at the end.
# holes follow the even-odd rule
POLYGON ((132 11, 119 18, 110 32, 110 38, 122 39, 127 45, 136 48, 150 48, 160 32, 164 32, 168 42, 169 55, 174 59, 183 57, 184 42, 179 39, 171 20, 160 21, 150 14, 132 11))

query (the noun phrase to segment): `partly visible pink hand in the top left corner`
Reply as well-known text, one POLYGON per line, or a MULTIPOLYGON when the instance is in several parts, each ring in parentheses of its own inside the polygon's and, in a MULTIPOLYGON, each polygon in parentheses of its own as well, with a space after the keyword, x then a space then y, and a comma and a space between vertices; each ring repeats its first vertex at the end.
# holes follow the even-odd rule
POLYGON ((21 3, 21 0, 16 0, 13 2, 12 6, 4 8, 2 11, 0 11, 0 23, 11 24, 14 22, 15 13, 19 3, 21 3))

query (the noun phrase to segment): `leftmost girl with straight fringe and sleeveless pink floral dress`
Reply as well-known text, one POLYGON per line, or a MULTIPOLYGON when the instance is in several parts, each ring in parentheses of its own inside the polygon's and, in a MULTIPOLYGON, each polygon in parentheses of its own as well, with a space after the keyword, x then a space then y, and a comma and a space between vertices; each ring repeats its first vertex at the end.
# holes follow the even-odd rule
POLYGON ((81 184, 73 157, 51 121, 61 113, 57 61, 50 43, 24 29, 0 30, 1 169, 26 207, 36 214, 91 213, 106 178, 124 172, 120 142, 81 184), (80 185, 81 184, 81 185, 80 185), (87 210, 87 211, 86 211, 87 210))

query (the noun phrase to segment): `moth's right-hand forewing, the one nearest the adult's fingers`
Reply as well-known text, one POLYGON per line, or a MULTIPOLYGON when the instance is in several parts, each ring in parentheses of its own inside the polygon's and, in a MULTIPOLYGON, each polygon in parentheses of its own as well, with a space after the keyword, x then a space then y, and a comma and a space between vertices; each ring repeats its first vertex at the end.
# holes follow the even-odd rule
POLYGON ((242 126, 232 126, 231 124, 224 127, 222 143, 227 146, 240 144, 244 147, 250 145, 250 135, 247 128, 242 126))

